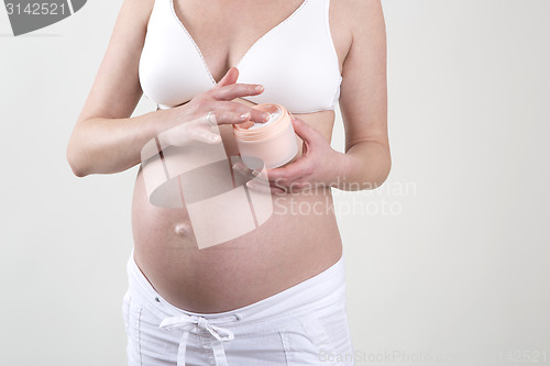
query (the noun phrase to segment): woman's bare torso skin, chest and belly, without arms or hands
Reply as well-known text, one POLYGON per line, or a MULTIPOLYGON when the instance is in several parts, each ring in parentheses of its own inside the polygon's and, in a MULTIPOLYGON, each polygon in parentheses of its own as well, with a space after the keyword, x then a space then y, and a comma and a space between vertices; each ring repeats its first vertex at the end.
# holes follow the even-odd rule
MULTIPOLYGON (((194 38, 200 40, 198 46, 216 80, 238 64, 255 40, 297 9, 301 0, 245 0, 231 9, 224 9, 228 7, 223 3, 227 2, 174 0, 176 13, 194 38), (180 9, 186 9, 185 15, 180 9), (224 19, 235 22, 227 23, 224 19), (243 19, 257 21, 249 23, 243 19)), ((341 70, 351 38, 345 22, 339 18, 337 1, 331 4, 330 26, 341 70)), ((333 111, 299 117, 330 142, 333 111)), ((228 155, 238 155, 231 129, 221 125, 220 132, 228 155)), ((186 210, 152 206, 140 168, 132 206, 135 260, 158 293, 174 306, 196 312, 220 312, 277 293, 340 258, 342 243, 330 210, 330 189, 273 199, 274 214, 258 229, 198 249, 186 210)))

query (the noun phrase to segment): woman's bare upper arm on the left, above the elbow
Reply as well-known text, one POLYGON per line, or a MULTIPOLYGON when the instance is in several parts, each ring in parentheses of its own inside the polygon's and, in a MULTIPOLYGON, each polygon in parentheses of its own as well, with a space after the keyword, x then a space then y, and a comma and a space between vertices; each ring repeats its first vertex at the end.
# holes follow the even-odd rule
POLYGON ((78 121, 128 118, 143 93, 138 78, 148 16, 154 0, 124 0, 106 55, 78 121))

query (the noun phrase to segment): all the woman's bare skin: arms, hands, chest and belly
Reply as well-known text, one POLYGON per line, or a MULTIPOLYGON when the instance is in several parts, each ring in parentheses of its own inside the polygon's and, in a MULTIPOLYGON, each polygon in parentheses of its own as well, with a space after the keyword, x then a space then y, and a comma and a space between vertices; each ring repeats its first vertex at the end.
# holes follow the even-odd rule
MULTIPOLYGON (((209 111, 215 112, 226 152, 237 155, 232 124, 262 122, 264 117, 241 99, 262 92, 261 88, 235 84, 239 70, 231 66, 301 0, 240 0, 231 7, 222 0, 174 0, 176 14, 219 84, 176 108, 131 118, 142 96, 138 66, 153 3, 125 0, 119 13, 67 147, 67 159, 79 177, 140 164, 147 141, 209 111)), ((195 312, 233 310, 319 274, 342 254, 329 187, 372 189, 387 178, 386 38, 380 0, 332 1, 330 27, 343 77, 340 109, 345 152, 330 147, 333 111, 294 115, 302 141, 298 158, 267 170, 270 186, 250 187, 273 192, 275 214, 266 223, 235 240, 198 249, 186 209, 152 206, 140 168, 132 207, 134 257, 156 291, 176 307, 195 312), (314 185, 317 189, 307 191, 314 185), (299 207, 321 213, 296 212, 299 207)), ((206 129, 201 131, 197 140, 211 137, 206 129)), ((243 166, 235 168, 252 174, 243 166)))

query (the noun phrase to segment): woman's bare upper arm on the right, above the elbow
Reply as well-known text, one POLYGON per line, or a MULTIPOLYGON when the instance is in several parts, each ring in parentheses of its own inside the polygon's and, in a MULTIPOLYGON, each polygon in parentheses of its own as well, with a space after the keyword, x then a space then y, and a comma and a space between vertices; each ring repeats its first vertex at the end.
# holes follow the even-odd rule
POLYGON ((362 141, 388 146, 386 31, 381 0, 351 2, 352 44, 343 63, 340 93, 345 151, 362 141))

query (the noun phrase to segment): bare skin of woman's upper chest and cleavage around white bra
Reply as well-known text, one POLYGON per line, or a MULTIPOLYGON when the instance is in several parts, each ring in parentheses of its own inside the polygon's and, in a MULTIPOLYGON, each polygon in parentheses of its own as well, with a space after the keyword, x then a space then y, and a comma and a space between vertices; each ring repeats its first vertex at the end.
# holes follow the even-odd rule
MULTIPOLYGON (((320 1, 320 0, 309 0, 320 1)), ((176 16, 195 40, 212 77, 219 81, 238 65, 249 49, 294 16, 304 0, 173 0, 176 16)), ((330 33, 338 54, 340 71, 345 58, 348 31, 340 20, 338 1, 330 4, 330 33)), ((304 45, 307 47, 307 45, 304 45)))

